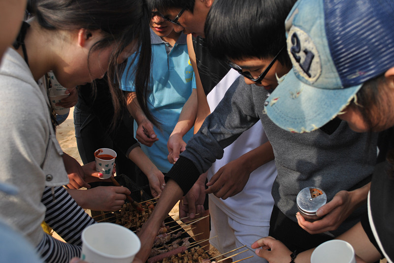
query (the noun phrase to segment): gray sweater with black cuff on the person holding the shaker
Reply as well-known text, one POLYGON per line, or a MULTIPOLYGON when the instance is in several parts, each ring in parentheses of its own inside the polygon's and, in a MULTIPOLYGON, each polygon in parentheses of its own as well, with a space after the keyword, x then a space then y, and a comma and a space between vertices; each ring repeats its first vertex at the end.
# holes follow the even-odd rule
MULTIPOLYGON (((293 221, 296 195, 301 189, 317 186, 329 201, 340 190, 356 189, 368 182, 376 160, 375 134, 353 132, 346 122, 331 135, 320 129, 304 134, 285 131, 263 113, 267 95, 263 87, 246 85, 243 77, 238 78, 166 176, 186 193, 199 174, 222 158, 223 149, 260 119, 278 170, 272 196, 275 205, 293 221)), ((338 233, 354 225, 365 207, 356 210, 338 233)))

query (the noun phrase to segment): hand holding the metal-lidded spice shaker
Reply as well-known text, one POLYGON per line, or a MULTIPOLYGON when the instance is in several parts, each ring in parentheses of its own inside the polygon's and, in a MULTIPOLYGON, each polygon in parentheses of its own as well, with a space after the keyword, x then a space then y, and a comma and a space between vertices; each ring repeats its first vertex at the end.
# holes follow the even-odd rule
POLYGON ((324 216, 322 219, 308 222, 299 212, 296 217, 302 229, 309 234, 319 234, 337 229, 355 209, 355 205, 352 204, 352 192, 340 191, 316 212, 319 217, 324 216))

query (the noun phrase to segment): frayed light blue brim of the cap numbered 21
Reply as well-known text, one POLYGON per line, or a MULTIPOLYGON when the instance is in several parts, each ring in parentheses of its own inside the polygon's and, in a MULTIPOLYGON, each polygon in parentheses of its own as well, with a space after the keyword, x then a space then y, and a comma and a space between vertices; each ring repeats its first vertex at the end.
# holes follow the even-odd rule
POLYGON ((360 88, 315 88, 299 81, 292 69, 266 100, 265 112, 285 130, 310 132, 336 117, 360 88))

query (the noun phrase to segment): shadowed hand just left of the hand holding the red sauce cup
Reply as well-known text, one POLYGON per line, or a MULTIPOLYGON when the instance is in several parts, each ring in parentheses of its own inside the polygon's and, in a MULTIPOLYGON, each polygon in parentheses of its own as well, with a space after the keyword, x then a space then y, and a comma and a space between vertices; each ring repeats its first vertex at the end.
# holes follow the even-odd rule
POLYGON ((70 189, 79 189, 81 187, 90 188, 90 185, 85 181, 85 173, 77 160, 66 153, 63 153, 63 162, 65 164, 69 183, 67 187, 70 189))

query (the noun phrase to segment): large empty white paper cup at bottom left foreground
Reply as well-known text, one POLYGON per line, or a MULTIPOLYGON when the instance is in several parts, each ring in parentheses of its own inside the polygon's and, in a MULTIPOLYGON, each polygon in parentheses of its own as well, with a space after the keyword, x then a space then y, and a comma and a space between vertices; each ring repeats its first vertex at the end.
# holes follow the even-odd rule
POLYGON ((81 259, 89 263, 131 263, 141 242, 130 229, 97 223, 82 232, 81 259))

